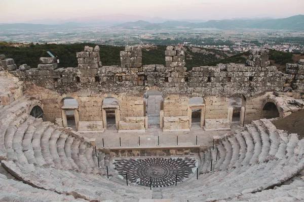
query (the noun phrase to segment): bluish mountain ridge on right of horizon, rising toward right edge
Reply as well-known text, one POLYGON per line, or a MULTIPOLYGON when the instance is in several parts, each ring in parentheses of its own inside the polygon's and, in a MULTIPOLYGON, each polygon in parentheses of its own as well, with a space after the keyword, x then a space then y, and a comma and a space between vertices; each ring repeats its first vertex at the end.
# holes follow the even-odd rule
POLYGON ((191 23, 185 21, 166 21, 163 23, 150 23, 139 20, 127 22, 113 28, 124 29, 162 29, 162 28, 197 28, 197 29, 291 29, 304 30, 304 15, 292 16, 281 19, 236 19, 236 20, 209 20, 202 23, 191 23))

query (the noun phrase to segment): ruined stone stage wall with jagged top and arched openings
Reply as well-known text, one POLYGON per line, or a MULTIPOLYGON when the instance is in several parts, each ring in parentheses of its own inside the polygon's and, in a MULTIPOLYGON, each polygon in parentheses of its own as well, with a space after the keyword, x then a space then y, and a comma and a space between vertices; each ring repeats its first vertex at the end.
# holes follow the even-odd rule
MULTIPOLYGON (((263 116, 264 92, 289 90, 303 96, 303 62, 288 65, 284 74, 270 66, 268 53, 254 49, 246 64, 201 66, 186 72, 181 46, 167 47, 166 66, 141 65, 140 46, 126 46, 121 52, 122 66, 101 66, 99 47, 86 46, 84 52, 77 53, 78 67, 58 68, 56 59, 42 58, 38 68, 19 67, 10 73, 26 83, 30 94, 41 93, 49 121, 61 117, 65 96, 77 99, 80 121, 101 121, 102 101, 108 95, 119 100, 121 121, 143 117, 143 94, 158 89, 165 97, 164 117, 187 116, 188 99, 201 96, 205 99, 206 119, 226 119, 229 97, 239 94, 247 99, 248 122, 263 116)), ((187 121, 184 117, 179 120, 187 121)))

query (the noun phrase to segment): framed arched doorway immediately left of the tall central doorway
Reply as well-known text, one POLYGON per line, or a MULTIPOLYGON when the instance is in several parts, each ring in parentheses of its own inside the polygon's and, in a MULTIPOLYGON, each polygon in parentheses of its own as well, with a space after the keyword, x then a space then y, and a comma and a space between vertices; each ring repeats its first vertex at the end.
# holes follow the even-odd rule
POLYGON ((119 102, 115 97, 106 97, 102 102, 102 121, 105 129, 118 129, 119 102))

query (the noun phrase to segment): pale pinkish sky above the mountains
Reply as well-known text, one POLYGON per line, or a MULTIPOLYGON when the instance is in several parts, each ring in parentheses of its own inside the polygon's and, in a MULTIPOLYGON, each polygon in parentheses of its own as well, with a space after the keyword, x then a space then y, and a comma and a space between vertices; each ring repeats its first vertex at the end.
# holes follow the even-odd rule
POLYGON ((0 0, 0 23, 127 14, 166 19, 284 18, 304 0, 0 0))

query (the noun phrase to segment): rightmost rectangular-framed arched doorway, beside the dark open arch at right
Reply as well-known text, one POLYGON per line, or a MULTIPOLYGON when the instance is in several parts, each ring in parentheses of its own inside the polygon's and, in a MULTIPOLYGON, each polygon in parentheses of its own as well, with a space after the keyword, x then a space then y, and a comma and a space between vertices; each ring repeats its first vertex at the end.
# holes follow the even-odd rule
POLYGON ((233 95, 228 102, 228 118, 231 122, 244 126, 246 97, 244 95, 233 95))

